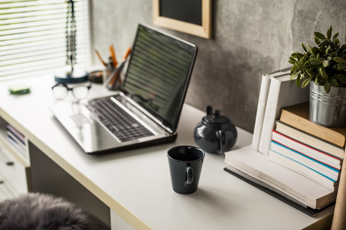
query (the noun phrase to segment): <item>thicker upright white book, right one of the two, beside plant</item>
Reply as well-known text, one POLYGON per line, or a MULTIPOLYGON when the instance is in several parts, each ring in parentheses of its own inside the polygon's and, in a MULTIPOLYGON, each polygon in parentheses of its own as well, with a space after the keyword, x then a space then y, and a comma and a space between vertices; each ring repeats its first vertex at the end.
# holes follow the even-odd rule
POLYGON ((290 80, 290 72, 271 79, 258 146, 259 152, 268 156, 272 130, 275 129, 275 120, 280 118, 281 108, 308 101, 309 92, 309 87, 302 89, 297 87, 295 80, 290 80))

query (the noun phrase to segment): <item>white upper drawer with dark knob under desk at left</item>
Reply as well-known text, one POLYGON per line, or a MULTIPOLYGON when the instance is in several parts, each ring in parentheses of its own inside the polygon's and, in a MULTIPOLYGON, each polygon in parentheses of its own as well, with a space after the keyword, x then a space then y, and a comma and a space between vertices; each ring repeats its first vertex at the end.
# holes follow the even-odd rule
POLYGON ((28 192, 26 168, 0 146, 0 173, 19 193, 28 192))

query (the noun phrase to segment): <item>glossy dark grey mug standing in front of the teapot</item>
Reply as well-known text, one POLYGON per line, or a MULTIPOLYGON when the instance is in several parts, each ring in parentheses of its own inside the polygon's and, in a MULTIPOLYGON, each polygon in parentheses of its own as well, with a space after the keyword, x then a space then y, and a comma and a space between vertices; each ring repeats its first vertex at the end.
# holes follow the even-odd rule
POLYGON ((180 194, 197 191, 205 153, 194 146, 176 146, 167 151, 173 190, 180 194))

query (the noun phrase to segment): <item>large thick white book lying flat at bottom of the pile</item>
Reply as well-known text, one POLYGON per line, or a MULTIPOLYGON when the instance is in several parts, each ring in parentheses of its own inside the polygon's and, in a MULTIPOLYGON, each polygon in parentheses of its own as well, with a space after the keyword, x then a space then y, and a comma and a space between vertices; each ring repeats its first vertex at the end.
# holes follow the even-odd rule
POLYGON ((225 162, 244 173, 266 182, 313 209, 322 208, 336 200, 331 191, 301 174, 268 160, 251 145, 225 152, 225 162))

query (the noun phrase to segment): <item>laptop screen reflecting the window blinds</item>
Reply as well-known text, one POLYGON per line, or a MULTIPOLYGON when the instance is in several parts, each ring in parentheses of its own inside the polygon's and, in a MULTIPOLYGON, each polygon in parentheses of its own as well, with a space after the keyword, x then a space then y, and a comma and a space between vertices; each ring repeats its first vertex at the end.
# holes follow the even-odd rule
POLYGON ((139 24, 122 91, 175 131, 197 47, 139 24))

